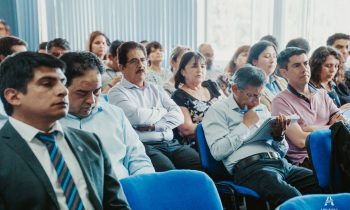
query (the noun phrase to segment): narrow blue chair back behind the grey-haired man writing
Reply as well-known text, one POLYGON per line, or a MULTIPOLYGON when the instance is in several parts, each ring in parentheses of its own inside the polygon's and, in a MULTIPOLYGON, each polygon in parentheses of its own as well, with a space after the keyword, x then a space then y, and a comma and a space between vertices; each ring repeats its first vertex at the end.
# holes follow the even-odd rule
POLYGON ((208 143, 205 139, 202 123, 199 123, 197 125, 196 137, 198 152, 203 170, 215 179, 230 178, 230 174, 228 173, 222 161, 215 160, 212 154, 210 153, 208 143))

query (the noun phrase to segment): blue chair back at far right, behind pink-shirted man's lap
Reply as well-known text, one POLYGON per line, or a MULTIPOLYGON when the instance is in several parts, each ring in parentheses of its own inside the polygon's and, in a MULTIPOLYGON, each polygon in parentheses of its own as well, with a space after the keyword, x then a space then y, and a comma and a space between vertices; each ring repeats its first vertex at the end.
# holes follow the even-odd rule
POLYGON ((306 139, 306 148, 319 186, 327 189, 330 185, 331 130, 312 132, 306 139))

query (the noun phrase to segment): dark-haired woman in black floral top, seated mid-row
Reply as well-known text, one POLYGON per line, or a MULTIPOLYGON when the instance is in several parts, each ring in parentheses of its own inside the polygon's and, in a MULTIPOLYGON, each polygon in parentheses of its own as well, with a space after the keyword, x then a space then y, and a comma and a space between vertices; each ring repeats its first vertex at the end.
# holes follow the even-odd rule
POLYGON ((205 112, 221 97, 216 83, 203 81, 206 75, 205 58, 199 52, 187 52, 180 61, 175 75, 175 88, 172 99, 180 106, 185 117, 184 124, 177 127, 175 136, 183 144, 195 145, 195 130, 205 112), (180 84, 182 86, 180 87, 180 84))

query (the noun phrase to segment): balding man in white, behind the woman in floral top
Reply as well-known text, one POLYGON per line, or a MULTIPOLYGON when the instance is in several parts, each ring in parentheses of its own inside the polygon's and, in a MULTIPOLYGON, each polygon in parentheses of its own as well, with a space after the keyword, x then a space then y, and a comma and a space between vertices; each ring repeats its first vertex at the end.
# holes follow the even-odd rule
POLYGON ((218 76, 223 74, 223 70, 214 62, 214 48, 209 43, 202 43, 198 46, 198 51, 205 57, 205 64, 207 65, 207 76, 205 79, 216 81, 218 76))

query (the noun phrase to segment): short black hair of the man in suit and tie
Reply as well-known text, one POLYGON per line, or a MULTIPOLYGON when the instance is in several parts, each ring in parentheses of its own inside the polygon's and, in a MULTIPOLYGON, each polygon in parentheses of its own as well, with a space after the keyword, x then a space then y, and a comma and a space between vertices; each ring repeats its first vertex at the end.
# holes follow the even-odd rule
POLYGON ((39 67, 60 68, 62 71, 65 69, 62 61, 51 55, 37 52, 20 52, 8 56, 1 63, 0 97, 7 115, 12 115, 13 107, 5 99, 5 89, 13 88, 26 94, 28 83, 33 79, 35 70, 39 67))

